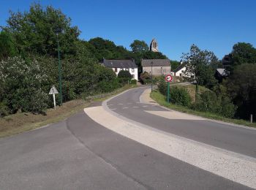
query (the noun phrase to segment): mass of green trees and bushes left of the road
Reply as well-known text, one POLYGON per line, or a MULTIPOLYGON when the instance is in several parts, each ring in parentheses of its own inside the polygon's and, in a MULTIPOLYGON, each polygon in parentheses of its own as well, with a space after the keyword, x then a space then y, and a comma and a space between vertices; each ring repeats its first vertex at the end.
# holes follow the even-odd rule
POLYGON ((112 69, 99 64, 102 58, 134 58, 137 64, 140 58, 166 58, 148 47, 129 51, 99 37, 86 42, 79 35, 78 26, 60 9, 32 4, 27 12, 10 12, 0 33, 0 117, 53 107, 48 92, 53 85, 59 89, 58 42, 64 102, 123 85, 112 69))

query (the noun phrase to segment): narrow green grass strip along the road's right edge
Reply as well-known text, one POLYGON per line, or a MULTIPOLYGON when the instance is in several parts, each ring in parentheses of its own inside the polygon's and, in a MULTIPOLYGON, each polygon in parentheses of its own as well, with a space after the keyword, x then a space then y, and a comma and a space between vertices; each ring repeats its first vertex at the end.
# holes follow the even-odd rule
POLYGON ((178 104, 171 104, 166 102, 166 97, 162 95, 158 90, 155 90, 151 93, 151 98, 154 99, 158 104, 170 108, 171 110, 176 110, 182 113, 189 113, 192 115, 198 115, 202 116, 203 118, 210 118, 218 121, 224 121, 227 123, 235 123, 239 125, 244 125, 244 126, 250 126, 250 127, 256 127, 256 123, 250 123, 249 121, 245 121, 242 119, 232 119, 232 118, 224 118, 221 115, 217 115, 214 113, 205 113, 205 112, 200 112, 196 110, 189 109, 188 107, 184 107, 178 104))

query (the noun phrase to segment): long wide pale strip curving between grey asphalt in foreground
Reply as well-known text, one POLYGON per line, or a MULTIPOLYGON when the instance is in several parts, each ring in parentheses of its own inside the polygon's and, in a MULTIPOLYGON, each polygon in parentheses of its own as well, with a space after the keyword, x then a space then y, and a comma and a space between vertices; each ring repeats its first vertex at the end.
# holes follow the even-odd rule
POLYGON ((252 157, 125 121, 110 114, 102 106, 88 107, 84 111, 94 121, 113 132, 195 167, 256 189, 256 159, 252 157))

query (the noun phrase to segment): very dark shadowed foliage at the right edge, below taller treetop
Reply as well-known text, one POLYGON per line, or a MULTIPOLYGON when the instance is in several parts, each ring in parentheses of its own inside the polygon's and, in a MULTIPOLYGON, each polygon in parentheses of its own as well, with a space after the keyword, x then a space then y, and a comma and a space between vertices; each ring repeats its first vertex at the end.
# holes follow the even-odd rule
POLYGON ((256 114, 256 64, 236 66, 226 86, 233 102, 238 106, 236 116, 249 119, 256 114))

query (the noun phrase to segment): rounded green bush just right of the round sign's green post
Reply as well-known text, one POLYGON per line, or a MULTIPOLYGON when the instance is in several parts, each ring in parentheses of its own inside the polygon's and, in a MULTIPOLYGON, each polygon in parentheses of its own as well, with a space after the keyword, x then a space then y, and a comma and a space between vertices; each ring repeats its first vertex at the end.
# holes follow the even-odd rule
POLYGON ((177 86, 172 86, 170 88, 169 99, 170 99, 170 102, 172 102, 173 104, 181 104, 187 107, 191 104, 191 101, 192 101, 187 89, 178 88, 177 86))

